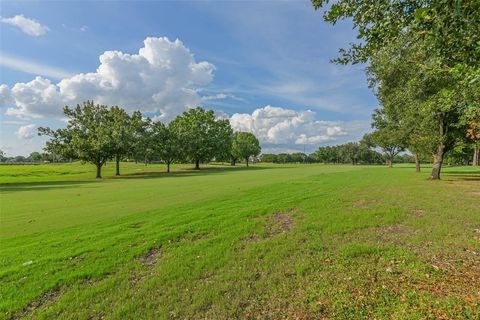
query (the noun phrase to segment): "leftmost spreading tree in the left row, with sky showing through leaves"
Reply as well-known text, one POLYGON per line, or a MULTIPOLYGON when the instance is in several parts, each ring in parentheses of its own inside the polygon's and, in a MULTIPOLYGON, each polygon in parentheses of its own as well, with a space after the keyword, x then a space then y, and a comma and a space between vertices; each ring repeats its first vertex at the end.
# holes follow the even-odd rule
POLYGON ((102 167, 114 149, 108 107, 87 101, 73 109, 65 107, 64 114, 68 118, 65 129, 39 128, 40 134, 51 137, 46 149, 94 164, 96 178, 101 178, 102 167))

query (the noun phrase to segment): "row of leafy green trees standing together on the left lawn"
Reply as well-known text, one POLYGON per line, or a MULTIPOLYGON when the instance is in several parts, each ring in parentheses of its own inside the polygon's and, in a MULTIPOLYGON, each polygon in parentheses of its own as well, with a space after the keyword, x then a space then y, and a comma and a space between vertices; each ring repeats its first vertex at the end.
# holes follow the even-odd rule
POLYGON ((50 140, 46 151, 65 159, 78 159, 97 168, 97 178, 107 161, 124 159, 158 160, 167 165, 191 162, 247 162, 260 153, 258 139, 248 132, 234 133, 228 120, 216 119, 212 110, 197 107, 184 112, 169 124, 143 118, 139 111, 129 115, 120 107, 108 107, 87 101, 75 108, 64 108, 68 119, 65 128, 39 128, 50 140))

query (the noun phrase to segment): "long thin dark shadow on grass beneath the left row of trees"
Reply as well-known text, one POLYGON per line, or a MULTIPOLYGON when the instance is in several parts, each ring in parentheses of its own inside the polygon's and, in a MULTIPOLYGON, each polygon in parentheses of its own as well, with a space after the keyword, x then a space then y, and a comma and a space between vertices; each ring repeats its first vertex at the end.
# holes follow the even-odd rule
MULTIPOLYGON (((98 184, 105 180, 129 180, 129 179, 158 179, 158 178, 179 178, 194 177, 203 175, 221 175, 231 171, 257 171, 268 170, 274 167, 203 167, 200 170, 195 169, 177 169, 170 173, 166 171, 143 171, 127 173, 120 176, 108 176, 103 179, 85 179, 85 180, 64 180, 64 181, 34 181, 34 182, 12 182, 0 184, 0 192, 19 192, 19 191, 47 191, 54 189, 74 188, 85 184, 98 184)), ((287 169, 288 167, 281 167, 287 169)), ((275 169, 278 169, 275 167, 275 169)), ((93 175, 94 173, 92 173, 93 175)))

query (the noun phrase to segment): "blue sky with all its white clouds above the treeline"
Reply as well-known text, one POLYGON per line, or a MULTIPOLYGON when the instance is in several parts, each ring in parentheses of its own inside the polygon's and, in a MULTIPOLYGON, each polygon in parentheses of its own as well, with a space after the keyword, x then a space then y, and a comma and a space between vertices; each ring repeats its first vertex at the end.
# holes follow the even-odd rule
POLYGON ((325 23, 309 1, 0 6, 1 149, 8 155, 41 150, 36 128, 63 126, 63 104, 87 98, 163 121, 200 104, 257 134, 266 152, 313 151, 370 130, 377 101, 364 66, 329 62, 355 40, 351 24, 325 23))

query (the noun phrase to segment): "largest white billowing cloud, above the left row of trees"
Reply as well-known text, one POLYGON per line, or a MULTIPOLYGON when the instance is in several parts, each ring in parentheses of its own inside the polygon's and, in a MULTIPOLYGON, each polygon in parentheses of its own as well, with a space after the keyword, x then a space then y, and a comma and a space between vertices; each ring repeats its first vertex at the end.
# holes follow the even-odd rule
POLYGON ((127 109, 160 113, 170 120, 201 102, 199 87, 213 80, 215 67, 196 62, 180 40, 149 37, 138 54, 106 51, 96 72, 80 73, 58 83, 37 76, 12 88, 1 87, 0 102, 8 115, 19 117, 62 117, 65 105, 86 100, 127 109))

